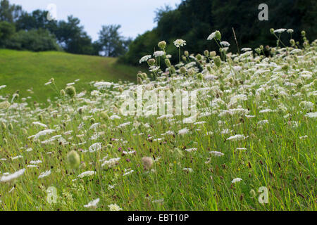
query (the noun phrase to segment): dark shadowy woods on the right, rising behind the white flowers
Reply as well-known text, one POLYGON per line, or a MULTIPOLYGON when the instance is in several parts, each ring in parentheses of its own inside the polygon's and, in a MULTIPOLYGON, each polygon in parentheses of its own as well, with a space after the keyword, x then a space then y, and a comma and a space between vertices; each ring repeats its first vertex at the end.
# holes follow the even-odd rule
MULTIPOLYGON (((182 51, 189 53, 218 50, 214 41, 206 40, 215 30, 220 30, 222 40, 231 44, 230 51, 236 52, 232 27, 240 49, 254 49, 261 44, 275 46, 276 38, 270 28, 291 28, 296 41, 302 41, 300 32, 306 30, 306 37, 313 41, 317 37, 316 13, 316 1, 311 0, 184 0, 175 10, 165 7, 156 11, 157 27, 137 37, 121 60, 137 64, 140 57, 157 49, 161 40, 168 43, 167 51, 173 55, 174 63, 178 60, 175 39, 185 39, 187 45, 182 51), (258 18, 262 3, 268 5, 268 21, 258 18)), ((290 34, 282 34, 281 39, 289 43, 290 34)))

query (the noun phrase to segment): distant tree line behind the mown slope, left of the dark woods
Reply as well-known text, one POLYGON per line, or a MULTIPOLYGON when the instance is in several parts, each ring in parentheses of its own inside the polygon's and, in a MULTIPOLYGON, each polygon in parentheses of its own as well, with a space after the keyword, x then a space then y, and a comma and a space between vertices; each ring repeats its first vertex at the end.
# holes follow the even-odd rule
POLYGON ((99 39, 92 41, 80 20, 48 20, 48 11, 23 11, 21 6, 0 1, 0 48, 28 51, 66 51, 68 53, 117 57, 128 51, 132 41, 120 35, 120 25, 104 25, 99 39))

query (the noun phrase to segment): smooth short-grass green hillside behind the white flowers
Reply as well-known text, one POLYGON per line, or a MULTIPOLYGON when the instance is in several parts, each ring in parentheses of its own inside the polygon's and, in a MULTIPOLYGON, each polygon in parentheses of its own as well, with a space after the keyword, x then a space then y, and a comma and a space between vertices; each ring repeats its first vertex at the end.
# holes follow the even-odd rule
POLYGON ((118 80, 135 81, 139 68, 121 65, 116 58, 97 56, 80 56, 63 52, 29 52, 0 49, 0 86, 6 85, 4 93, 13 94, 20 90, 21 97, 32 96, 33 101, 44 102, 54 96, 54 91, 44 84, 54 77, 58 88, 76 79, 78 91, 89 90, 88 82, 101 80, 118 82, 118 80), (34 91, 30 95, 27 89, 34 91))

